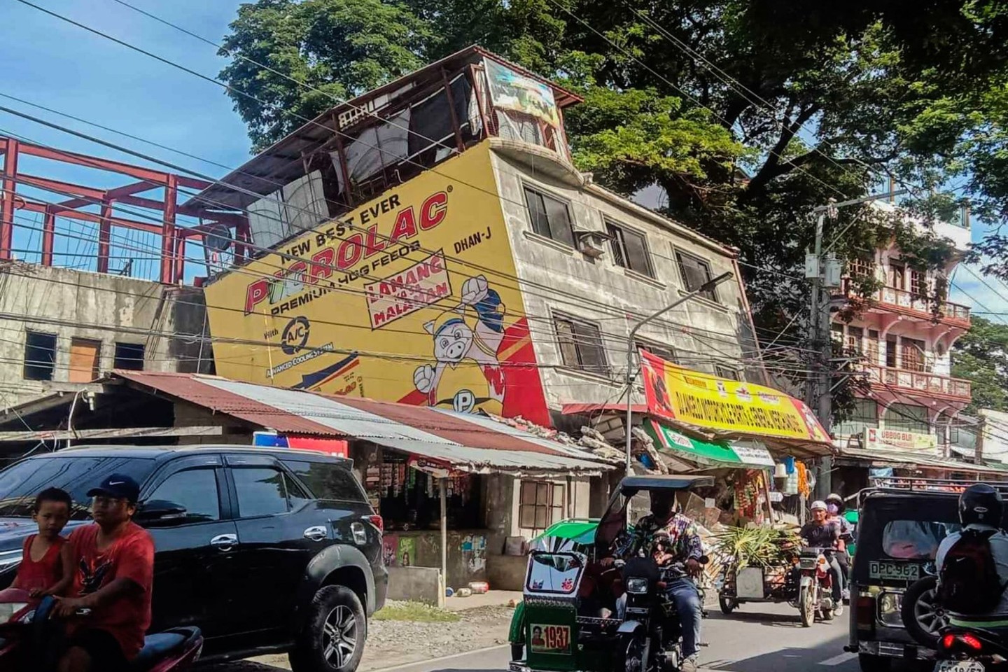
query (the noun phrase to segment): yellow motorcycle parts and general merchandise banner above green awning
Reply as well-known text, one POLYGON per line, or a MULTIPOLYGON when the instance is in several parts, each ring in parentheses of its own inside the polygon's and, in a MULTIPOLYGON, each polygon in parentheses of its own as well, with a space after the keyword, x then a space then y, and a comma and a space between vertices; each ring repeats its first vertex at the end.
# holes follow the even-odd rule
POLYGON ((804 402, 769 387, 718 378, 641 352, 648 413, 698 427, 829 442, 804 402))

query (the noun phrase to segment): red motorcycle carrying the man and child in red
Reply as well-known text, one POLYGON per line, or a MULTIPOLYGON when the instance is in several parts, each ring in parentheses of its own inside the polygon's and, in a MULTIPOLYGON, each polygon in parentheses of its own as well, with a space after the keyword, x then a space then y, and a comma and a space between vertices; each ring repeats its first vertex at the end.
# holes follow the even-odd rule
MULTIPOLYGON (((18 588, 0 590, 0 670, 28 669, 21 659, 44 650, 54 606, 52 597, 39 600, 18 588)), ((78 612, 79 617, 88 614, 90 610, 78 612)), ((199 628, 173 628, 147 635, 143 649, 130 663, 130 672, 182 672, 196 663, 202 651, 203 634, 199 628)))

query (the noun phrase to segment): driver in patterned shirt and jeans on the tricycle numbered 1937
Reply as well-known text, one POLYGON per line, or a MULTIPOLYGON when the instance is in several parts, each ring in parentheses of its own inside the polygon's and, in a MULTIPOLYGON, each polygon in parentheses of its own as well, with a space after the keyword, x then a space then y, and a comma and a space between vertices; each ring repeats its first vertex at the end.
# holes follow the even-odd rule
MULTIPOLYGON (((654 557, 659 566, 681 563, 685 571, 668 582, 668 598, 675 604, 682 628, 682 672, 697 669, 698 645, 704 604, 694 578, 700 575, 704 548, 697 525, 688 517, 675 512, 675 494, 651 493, 651 513, 634 525, 634 552, 643 550, 654 557)), ((625 599, 625 596, 622 599, 625 599)), ((619 604, 622 615, 623 604, 619 604)))

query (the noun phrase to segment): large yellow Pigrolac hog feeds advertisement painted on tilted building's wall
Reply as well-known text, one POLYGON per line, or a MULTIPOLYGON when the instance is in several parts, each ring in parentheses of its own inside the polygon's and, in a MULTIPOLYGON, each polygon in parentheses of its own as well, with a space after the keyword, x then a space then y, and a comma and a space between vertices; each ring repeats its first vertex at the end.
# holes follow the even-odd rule
POLYGON ((489 144, 206 289, 221 376, 549 424, 489 144))

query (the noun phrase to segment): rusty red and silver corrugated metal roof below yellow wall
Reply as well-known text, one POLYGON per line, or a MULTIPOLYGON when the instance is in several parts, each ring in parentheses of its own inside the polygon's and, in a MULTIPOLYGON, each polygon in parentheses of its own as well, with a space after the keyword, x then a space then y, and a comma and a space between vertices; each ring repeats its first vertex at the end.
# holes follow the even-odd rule
POLYGON ((611 468, 587 451, 491 418, 216 376, 116 371, 139 385, 290 434, 353 436, 469 472, 586 473, 611 468))

